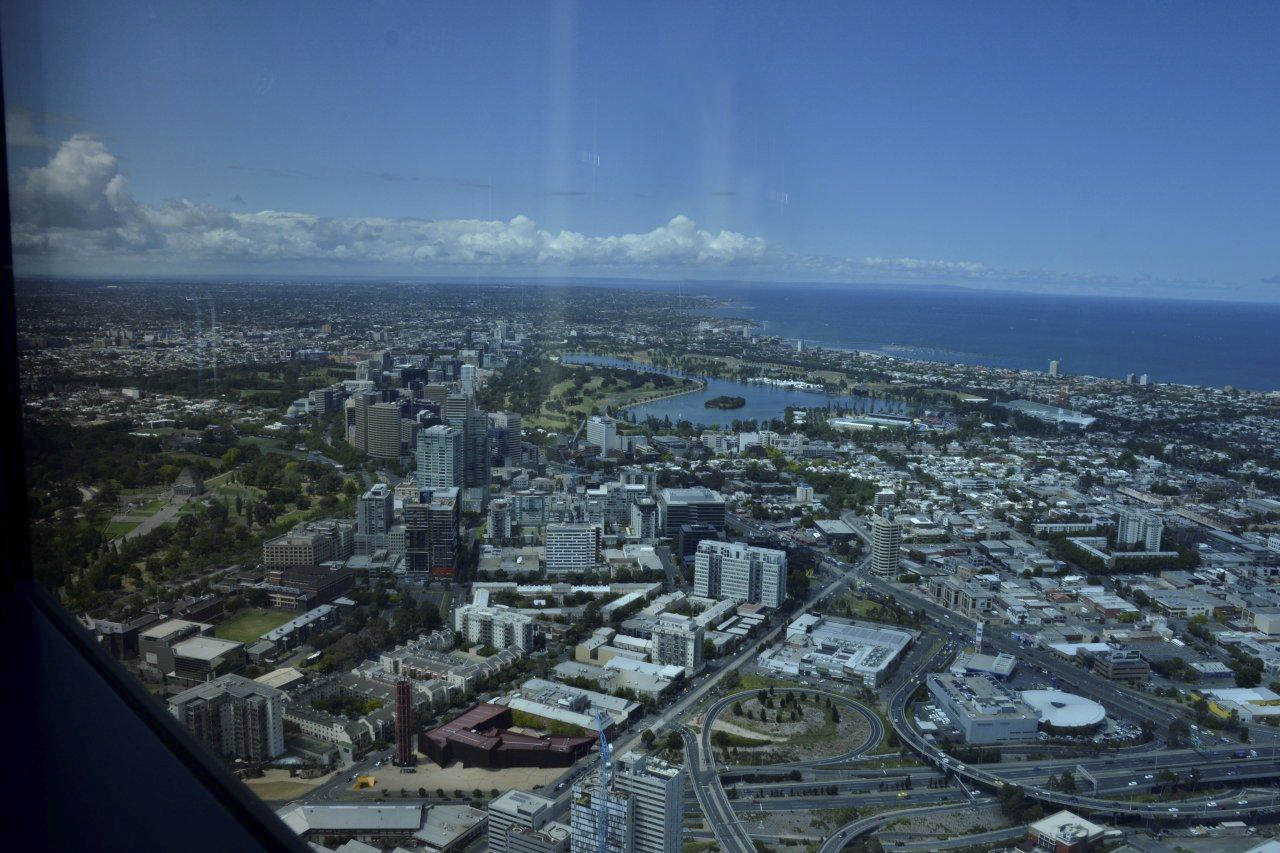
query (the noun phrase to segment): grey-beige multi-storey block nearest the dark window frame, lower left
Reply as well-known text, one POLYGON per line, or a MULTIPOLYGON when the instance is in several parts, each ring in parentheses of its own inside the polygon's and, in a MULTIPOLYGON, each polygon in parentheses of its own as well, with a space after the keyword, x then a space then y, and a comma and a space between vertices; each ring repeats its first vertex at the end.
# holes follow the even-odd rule
POLYGON ((223 675, 169 699, 196 739, 220 756, 269 761, 284 752, 284 694, 239 675, 223 675))

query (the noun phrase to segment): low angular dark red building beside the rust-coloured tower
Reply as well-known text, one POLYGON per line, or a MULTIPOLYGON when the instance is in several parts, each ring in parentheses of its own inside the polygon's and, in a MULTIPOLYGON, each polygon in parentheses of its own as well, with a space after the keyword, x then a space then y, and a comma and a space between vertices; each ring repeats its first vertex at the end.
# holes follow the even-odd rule
POLYGON ((480 702, 419 739, 419 751, 442 767, 568 767, 591 752, 594 738, 508 731, 511 708, 480 702))

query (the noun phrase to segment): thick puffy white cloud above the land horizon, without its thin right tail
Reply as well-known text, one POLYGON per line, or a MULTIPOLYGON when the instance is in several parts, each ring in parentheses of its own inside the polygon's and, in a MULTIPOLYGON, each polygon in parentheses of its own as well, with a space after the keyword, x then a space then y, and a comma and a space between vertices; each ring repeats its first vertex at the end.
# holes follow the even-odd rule
POLYGON ((590 237, 513 219, 326 218, 230 213, 174 200, 136 201, 97 138, 73 136, 15 192, 14 247, 54 257, 307 261, 486 266, 716 268, 773 259, 758 237, 699 228, 687 216, 645 233, 590 237))

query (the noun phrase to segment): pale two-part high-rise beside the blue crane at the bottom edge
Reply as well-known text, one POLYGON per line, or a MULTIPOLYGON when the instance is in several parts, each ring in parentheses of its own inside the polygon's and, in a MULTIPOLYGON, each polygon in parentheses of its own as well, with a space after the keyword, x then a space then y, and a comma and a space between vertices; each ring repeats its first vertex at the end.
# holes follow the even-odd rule
MULTIPOLYGON (((599 772, 599 771, 596 771, 599 772)), ((589 774, 573 785, 571 843, 573 853, 596 853, 595 798, 599 776, 589 774)), ((681 847, 684 821, 684 767, 657 756, 628 752, 614 758, 605 789, 605 849, 617 853, 664 853, 681 847)))

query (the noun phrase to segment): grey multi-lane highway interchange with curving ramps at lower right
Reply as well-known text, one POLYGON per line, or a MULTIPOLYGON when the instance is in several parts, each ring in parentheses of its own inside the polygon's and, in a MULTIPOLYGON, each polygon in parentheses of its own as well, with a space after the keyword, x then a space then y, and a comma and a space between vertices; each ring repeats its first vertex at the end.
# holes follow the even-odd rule
MULTIPOLYGON (((758 538, 777 540, 777 534, 748 519, 733 519, 733 526, 740 533, 758 538)), ((1164 749, 1158 740, 1129 747, 1123 751, 1106 751, 1096 757, 1042 758, 1034 762, 1006 762, 997 765, 965 766, 947 756, 931 740, 925 739, 910 720, 909 703, 913 694, 923 684, 923 676, 938 671, 948 662, 954 649, 940 639, 969 637, 974 622, 954 613, 936 602, 918 596, 900 585, 876 578, 867 571, 867 560, 847 564, 832 558, 824 549, 810 548, 812 555, 826 569, 833 570, 837 581, 810 597, 801 610, 809 610, 819 599, 837 592, 844 583, 852 581, 859 589, 867 589, 887 596, 897 603, 922 611, 928 626, 911 652, 904 658, 896 676, 886 688, 888 721, 905 747, 924 762, 924 767, 868 771, 859 768, 859 760, 876 742, 863 744, 851 753, 837 760, 814 761, 808 763, 776 765, 769 767, 723 768, 716 763, 716 753, 710 745, 710 729, 716 715, 742 694, 726 695, 710 706, 704 715, 700 733, 684 727, 682 736, 692 780, 696 808, 710 825, 718 845, 726 850, 751 850, 749 835, 741 815, 751 811, 790 812, 797 809, 832 808, 884 808, 901 803, 904 808, 882 811, 878 815, 851 821, 838 827, 823 845, 824 853, 842 849, 858 836, 876 830, 884 822, 901 816, 936 813, 975 804, 989 804, 995 799, 991 793, 1002 785, 1011 784, 1023 789, 1024 795, 1041 802, 1047 811, 1069 808, 1098 818, 1137 821, 1143 825, 1185 825, 1193 821, 1226 820, 1270 820, 1277 804, 1277 793, 1268 790, 1265 795, 1247 792, 1247 785, 1272 783, 1280 776, 1277 763, 1276 733, 1265 727, 1252 727, 1256 756, 1239 758, 1240 744, 1211 745, 1203 742, 1190 749, 1164 749), (800 780, 783 777, 787 771, 800 770, 800 780), (1065 793, 1046 786, 1048 776, 1071 770, 1080 790, 1065 793), (1149 793, 1157 786, 1157 774, 1169 771, 1179 780, 1185 780, 1192 771, 1198 774, 1201 784, 1217 784, 1216 793, 1198 794, 1179 800, 1147 803, 1119 799, 1139 793, 1149 793), (1082 772, 1083 771, 1083 772, 1082 772), (776 774, 777 781, 733 781, 744 772, 760 776, 776 774), (1094 785, 1088 777, 1096 780, 1094 785), (724 780, 730 780, 726 786, 724 780), (909 781, 908 781, 909 780, 909 781), (929 785, 934 785, 931 788, 929 785), (831 786, 836 793, 829 794, 831 786), (910 790, 895 790, 910 786, 910 790), (732 798, 730 797, 732 792, 732 798), (1110 797, 1110 798, 1108 798, 1110 797)), ((764 643, 753 646, 755 649, 764 643)), ((1132 720, 1151 720, 1165 730, 1170 722, 1181 717, 1178 707, 1152 699, 1146 695, 1117 686, 1115 683, 1098 678, 1050 652, 1028 648, 1018 643, 1010 631, 1002 626, 987 626, 986 646, 991 651, 1015 654, 1023 666, 1042 670, 1056 676, 1062 689, 1088 695, 1107 707, 1112 715, 1132 720)), ((736 662, 735 662, 736 665, 736 662)), ((812 688, 799 688, 813 692, 812 688)), ((841 695, 823 690, 831 695, 841 695)), ((845 695, 845 707, 859 707, 854 699, 845 695)), ((864 716, 876 719, 876 731, 879 731, 879 716, 863 708, 864 716)), ((878 734, 877 739, 878 740, 878 734)), ((1019 751, 1010 751, 1016 754, 1019 751)), ((1055 752, 1048 747, 1036 747, 1034 752, 1055 752)), ((1061 752, 1057 749, 1056 752, 1061 752)), ((1274 789, 1272 789, 1274 790, 1274 789)), ((692 806, 694 803, 690 803, 692 806)), ((991 843, 1012 838, 1020 830, 996 830, 988 833, 991 839, 977 836, 965 839, 966 844, 991 843)), ((690 838, 699 835, 691 834, 690 838)), ((925 845, 938 849, 937 843, 925 845)), ((900 849, 909 850, 902 844, 900 849)), ((919 849, 924 849, 923 847, 919 849)))

